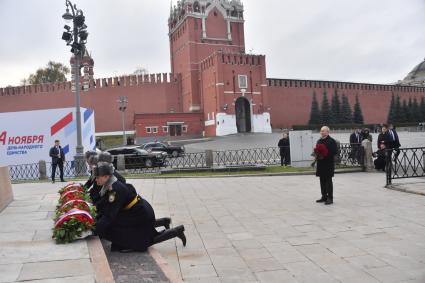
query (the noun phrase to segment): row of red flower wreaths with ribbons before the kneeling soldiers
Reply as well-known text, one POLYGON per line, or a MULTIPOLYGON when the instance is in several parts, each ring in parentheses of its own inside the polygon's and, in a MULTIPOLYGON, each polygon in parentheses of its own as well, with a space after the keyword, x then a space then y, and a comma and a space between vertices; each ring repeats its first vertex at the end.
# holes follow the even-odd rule
POLYGON ((59 194, 52 238, 63 244, 91 235, 96 208, 88 202, 87 191, 80 184, 69 184, 59 194))

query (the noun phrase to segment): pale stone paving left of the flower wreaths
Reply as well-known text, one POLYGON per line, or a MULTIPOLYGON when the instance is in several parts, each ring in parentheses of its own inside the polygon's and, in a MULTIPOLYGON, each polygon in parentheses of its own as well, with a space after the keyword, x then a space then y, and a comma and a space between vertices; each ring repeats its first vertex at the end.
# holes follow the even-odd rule
POLYGON ((57 245, 52 215, 61 184, 15 184, 0 213, 0 282, 95 282, 86 241, 57 245))

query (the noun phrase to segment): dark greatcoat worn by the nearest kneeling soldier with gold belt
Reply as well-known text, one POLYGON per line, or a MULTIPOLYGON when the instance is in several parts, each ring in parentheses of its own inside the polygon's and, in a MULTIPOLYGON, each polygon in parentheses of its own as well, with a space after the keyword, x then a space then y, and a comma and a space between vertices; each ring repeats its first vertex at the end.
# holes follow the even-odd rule
POLYGON ((140 196, 130 184, 116 181, 102 197, 105 206, 96 223, 96 234, 121 249, 144 252, 153 244, 156 231, 155 213, 152 206, 140 196), (138 197, 130 209, 125 207, 138 197))

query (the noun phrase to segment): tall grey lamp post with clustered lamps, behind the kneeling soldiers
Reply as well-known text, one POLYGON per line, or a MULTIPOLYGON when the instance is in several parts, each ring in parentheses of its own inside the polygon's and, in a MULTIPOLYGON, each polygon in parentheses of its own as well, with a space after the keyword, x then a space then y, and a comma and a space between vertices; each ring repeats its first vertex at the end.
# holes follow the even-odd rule
POLYGON ((71 46, 71 53, 74 54, 74 66, 73 66, 73 80, 75 84, 75 115, 77 122, 77 146, 75 160, 75 170, 78 176, 85 174, 85 162, 84 162, 84 147, 81 135, 81 110, 80 110, 80 69, 81 59, 86 51, 85 44, 87 43, 87 26, 85 25, 85 17, 83 11, 77 9, 75 4, 71 1, 65 0, 66 12, 62 18, 73 23, 73 29, 65 25, 65 31, 62 34, 62 39, 66 41, 67 46, 71 46), (69 12, 71 8, 71 13, 69 12))

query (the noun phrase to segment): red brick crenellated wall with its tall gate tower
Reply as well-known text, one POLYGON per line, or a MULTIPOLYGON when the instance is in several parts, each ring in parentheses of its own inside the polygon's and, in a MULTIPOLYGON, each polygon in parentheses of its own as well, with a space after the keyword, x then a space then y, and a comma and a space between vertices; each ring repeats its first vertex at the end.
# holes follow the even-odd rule
MULTIPOLYGON (((265 56, 245 53, 244 21, 240 0, 179 1, 168 20, 171 73, 93 79, 86 56, 81 106, 94 109, 97 134, 121 134, 120 96, 129 101, 126 130, 139 142, 307 124, 314 92, 319 103, 324 92, 345 95, 351 108, 357 96, 367 124, 387 121, 393 94, 425 96, 425 62, 393 85, 267 78, 265 56)), ((73 107, 71 89, 71 82, 0 88, 0 112, 73 107)))

